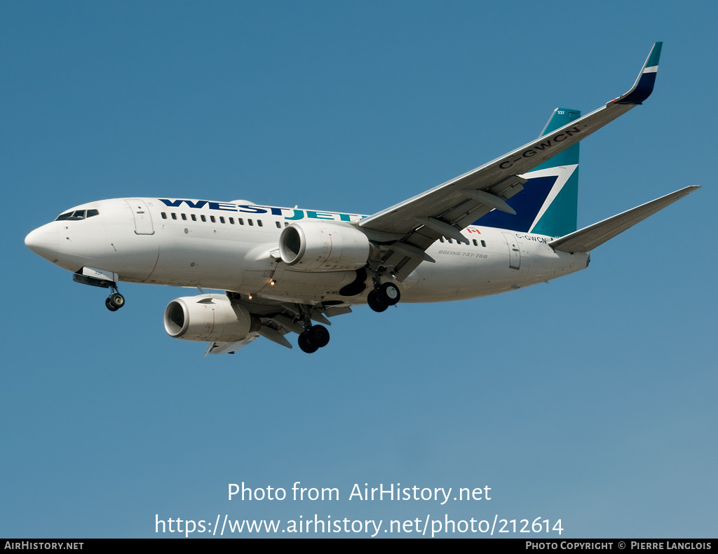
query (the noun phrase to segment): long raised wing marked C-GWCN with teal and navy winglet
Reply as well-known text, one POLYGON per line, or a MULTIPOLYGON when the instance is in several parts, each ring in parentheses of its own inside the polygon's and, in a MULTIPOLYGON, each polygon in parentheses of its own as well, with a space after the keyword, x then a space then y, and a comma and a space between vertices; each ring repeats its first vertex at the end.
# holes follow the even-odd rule
POLYGON ((650 96, 662 44, 653 45, 633 88, 623 96, 488 164, 360 221, 370 239, 383 246, 383 266, 403 281, 421 262, 434 262, 426 249, 441 236, 466 242, 460 231, 486 213, 494 209, 514 213, 506 200, 523 189, 523 174, 650 96))

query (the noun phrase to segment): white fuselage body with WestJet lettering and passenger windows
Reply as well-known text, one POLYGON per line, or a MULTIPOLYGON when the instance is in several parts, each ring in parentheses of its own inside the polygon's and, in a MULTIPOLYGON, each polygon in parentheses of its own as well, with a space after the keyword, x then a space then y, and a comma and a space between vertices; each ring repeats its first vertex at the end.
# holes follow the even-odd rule
MULTIPOLYGON (((83 219, 52 221, 26 243, 52 263, 77 272, 101 269, 126 282, 230 290, 272 300, 357 304, 341 287, 355 271, 297 271, 281 262, 278 241, 295 222, 352 225, 361 216, 256 206, 243 200, 127 198, 101 200, 71 211, 96 210, 83 219), (195 207, 196 206, 196 207, 195 207)), ((402 302, 443 302, 493 295, 544 282, 587 266, 585 252, 554 251, 552 237, 469 226, 469 244, 439 239, 401 283, 402 302)))

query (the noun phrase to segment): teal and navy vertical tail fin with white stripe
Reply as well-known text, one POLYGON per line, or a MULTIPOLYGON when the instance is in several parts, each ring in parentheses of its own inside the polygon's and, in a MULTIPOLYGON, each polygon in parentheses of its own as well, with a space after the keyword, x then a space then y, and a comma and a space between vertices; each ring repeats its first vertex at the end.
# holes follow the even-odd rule
MULTIPOLYGON (((539 136, 543 137, 580 116, 580 111, 556 108, 539 136)), ((576 231, 579 143, 521 177, 528 179, 523 190, 508 200, 508 205, 516 210, 516 216, 493 210, 474 225, 548 236, 564 236, 576 231)))

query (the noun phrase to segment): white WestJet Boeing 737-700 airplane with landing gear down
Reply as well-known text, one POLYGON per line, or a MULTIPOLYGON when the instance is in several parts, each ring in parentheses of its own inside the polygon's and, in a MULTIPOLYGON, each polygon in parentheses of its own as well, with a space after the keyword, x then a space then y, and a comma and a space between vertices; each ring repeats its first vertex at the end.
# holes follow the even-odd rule
POLYGON ((25 244, 110 290, 118 282, 196 287, 167 305, 174 338, 234 354, 263 336, 307 353, 327 318, 368 304, 444 302, 516 290, 584 269, 590 251, 693 192, 689 186, 577 230, 579 141, 650 96, 661 42, 633 87, 586 116, 556 109, 538 139, 370 216, 248 200, 117 198, 64 211, 25 244), (223 290, 224 294, 205 293, 223 290))

